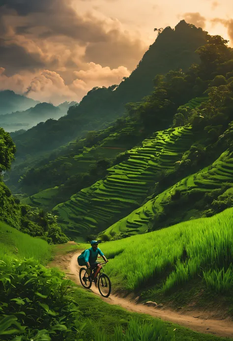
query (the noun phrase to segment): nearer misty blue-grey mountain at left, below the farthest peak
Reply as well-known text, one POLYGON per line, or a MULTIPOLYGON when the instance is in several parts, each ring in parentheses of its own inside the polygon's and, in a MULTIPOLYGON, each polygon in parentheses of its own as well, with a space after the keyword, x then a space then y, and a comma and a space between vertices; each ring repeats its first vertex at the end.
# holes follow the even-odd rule
POLYGON ((1 115, 0 125, 8 132, 19 129, 27 130, 48 119, 58 120, 61 116, 67 114, 70 106, 76 104, 76 102, 64 102, 56 107, 51 103, 39 103, 25 111, 1 115))

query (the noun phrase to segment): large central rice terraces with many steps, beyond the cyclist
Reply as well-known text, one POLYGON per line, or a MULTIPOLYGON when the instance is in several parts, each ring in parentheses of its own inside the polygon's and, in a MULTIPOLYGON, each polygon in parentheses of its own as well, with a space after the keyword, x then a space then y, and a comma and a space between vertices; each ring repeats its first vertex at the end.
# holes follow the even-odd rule
POLYGON ((161 170, 173 171, 181 153, 195 136, 191 126, 170 128, 153 134, 141 147, 127 152, 128 159, 109 168, 106 179, 82 189, 53 213, 68 235, 97 233, 138 208, 154 186, 161 170))

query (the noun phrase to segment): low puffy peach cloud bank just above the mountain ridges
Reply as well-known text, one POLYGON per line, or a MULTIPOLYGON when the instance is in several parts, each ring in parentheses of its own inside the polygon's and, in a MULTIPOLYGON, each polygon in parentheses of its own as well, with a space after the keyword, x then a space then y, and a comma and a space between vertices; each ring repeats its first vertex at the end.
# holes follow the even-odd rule
POLYGON ((129 75, 130 71, 124 66, 111 69, 90 62, 86 70, 75 71, 74 80, 65 84, 61 75, 55 71, 43 70, 37 74, 23 72, 7 76, 5 69, 0 67, 0 90, 11 89, 34 100, 51 101, 58 105, 65 100, 79 102, 93 87, 119 84, 123 77, 129 75))

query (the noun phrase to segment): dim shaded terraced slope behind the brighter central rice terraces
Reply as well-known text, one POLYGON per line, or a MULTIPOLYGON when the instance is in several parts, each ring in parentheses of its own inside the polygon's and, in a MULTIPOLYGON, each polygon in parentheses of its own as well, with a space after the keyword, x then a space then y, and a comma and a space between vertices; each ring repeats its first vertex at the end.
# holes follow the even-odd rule
MULTIPOLYGON (((33 169, 33 176, 30 176, 33 181, 36 181, 36 186, 38 185, 42 190, 22 199, 22 202, 31 206, 41 206, 45 209, 52 209, 55 205, 64 201, 64 198, 62 200, 62 197, 59 194, 59 190, 61 189, 61 186, 64 187, 63 184, 65 184, 67 179, 72 176, 77 177, 79 174, 87 174, 98 160, 114 159, 117 154, 131 148, 138 140, 142 139, 139 130, 140 127, 138 124, 135 124, 131 120, 128 120, 122 129, 116 130, 113 129, 113 126, 110 126, 103 132, 100 132, 105 136, 107 135, 107 137, 101 139, 90 148, 84 147, 81 154, 74 156, 71 156, 70 153, 72 152, 72 144, 75 144, 75 142, 70 142, 67 155, 58 157, 55 161, 51 161, 46 166, 33 169), (52 184, 54 187, 46 188, 46 184, 48 183, 52 184), (56 204, 53 204, 56 200, 56 204)), ((21 181, 26 182, 23 177, 21 177, 21 181)), ((31 190, 29 179, 27 179, 27 183, 27 186, 23 185, 21 187, 23 192, 31 190)), ((72 192, 71 194, 73 193, 75 192, 72 192)))

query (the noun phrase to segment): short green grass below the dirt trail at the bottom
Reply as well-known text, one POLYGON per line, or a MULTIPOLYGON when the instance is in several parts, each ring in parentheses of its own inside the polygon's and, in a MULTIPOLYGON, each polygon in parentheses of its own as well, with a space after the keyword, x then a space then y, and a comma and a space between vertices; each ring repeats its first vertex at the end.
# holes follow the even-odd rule
MULTIPOLYGON (((77 288, 74 292, 74 298, 79 303, 79 308, 83 312, 83 318, 86 320, 87 318, 91 320, 91 323, 88 324, 88 328, 92 331, 93 327, 96 327, 94 341, 117 341, 117 340, 130 340, 130 341, 138 341, 138 340, 157 340, 157 339, 149 339, 148 335, 145 335, 143 339, 135 339, 133 334, 133 330, 135 330, 136 326, 131 329, 131 339, 117 339, 116 334, 114 335, 114 331, 117 328, 122 328, 124 331, 127 330, 129 324, 137 323, 137 338, 140 336, 140 331, 142 332, 143 324, 150 325, 153 327, 153 330, 156 330, 158 326, 164 331, 170 331, 175 336, 175 341, 227 341, 230 340, 228 338, 218 338, 213 335, 201 334, 194 332, 188 328, 182 327, 177 324, 173 324, 170 322, 165 322, 162 320, 154 319, 146 314, 139 314, 124 310, 118 306, 113 306, 107 304, 102 301, 99 297, 94 295, 87 290, 82 288, 77 288), (92 326, 92 327, 91 327, 92 326), (102 335, 102 338, 100 337, 102 335), (109 339, 108 339, 109 338, 109 339)), ((149 328, 148 328, 149 329, 149 328)), ((89 338, 88 340, 91 340, 89 338)), ((163 339, 162 339, 163 340, 163 339)), ((171 339, 165 339, 166 341, 171 339)))

